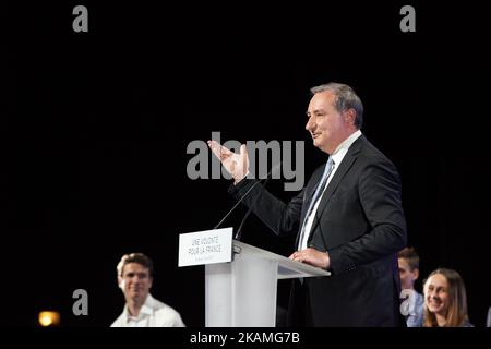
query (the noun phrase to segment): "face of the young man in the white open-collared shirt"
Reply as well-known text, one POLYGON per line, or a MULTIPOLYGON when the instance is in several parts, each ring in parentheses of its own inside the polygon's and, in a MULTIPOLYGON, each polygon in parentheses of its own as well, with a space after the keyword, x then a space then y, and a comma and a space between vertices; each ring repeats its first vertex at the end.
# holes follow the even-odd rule
POLYGON ((127 298, 145 301, 152 288, 148 268, 139 263, 128 263, 122 272, 123 292, 127 298))

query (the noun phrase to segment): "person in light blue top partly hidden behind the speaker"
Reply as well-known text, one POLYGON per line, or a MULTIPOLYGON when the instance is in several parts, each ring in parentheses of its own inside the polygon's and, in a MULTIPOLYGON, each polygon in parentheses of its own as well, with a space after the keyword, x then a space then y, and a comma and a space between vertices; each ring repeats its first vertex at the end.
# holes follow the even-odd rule
POLYGON ((415 290, 415 281, 419 277, 419 255, 415 249, 406 248, 398 255, 402 313, 406 317, 407 327, 421 327, 423 321, 424 299, 415 290))

